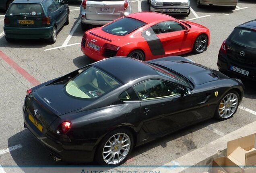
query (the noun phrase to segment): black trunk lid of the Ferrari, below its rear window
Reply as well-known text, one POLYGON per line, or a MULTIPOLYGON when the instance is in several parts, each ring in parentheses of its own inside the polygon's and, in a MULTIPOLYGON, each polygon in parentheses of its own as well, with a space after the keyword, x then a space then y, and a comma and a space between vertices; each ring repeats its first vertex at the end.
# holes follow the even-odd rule
POLYGON ((37 102, 57 116, 81 109, 94 99, 81 99, 66 93, 64 84, 50 84, 33 91, 37 102))

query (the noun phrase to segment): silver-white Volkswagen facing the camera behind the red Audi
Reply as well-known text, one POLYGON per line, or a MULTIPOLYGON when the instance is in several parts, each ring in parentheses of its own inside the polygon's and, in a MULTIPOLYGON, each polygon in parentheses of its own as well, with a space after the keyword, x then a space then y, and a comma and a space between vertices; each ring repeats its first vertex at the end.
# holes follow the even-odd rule
POLYGON ((149 11, 164 14, 188 16, 190 14, 189 0, 148 0, 149 11))

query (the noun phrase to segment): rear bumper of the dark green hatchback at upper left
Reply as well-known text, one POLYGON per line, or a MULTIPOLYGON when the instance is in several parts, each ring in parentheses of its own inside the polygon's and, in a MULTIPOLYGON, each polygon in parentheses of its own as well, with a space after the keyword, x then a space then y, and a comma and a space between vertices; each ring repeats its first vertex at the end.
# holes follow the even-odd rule
POLYGON ((18 39, 40 39, 40 38, 50 38, 52 36, 52 28, 40 27, 40 28, 21 28, 4 26, 4 33, 7 38, 18 38, 18 39))

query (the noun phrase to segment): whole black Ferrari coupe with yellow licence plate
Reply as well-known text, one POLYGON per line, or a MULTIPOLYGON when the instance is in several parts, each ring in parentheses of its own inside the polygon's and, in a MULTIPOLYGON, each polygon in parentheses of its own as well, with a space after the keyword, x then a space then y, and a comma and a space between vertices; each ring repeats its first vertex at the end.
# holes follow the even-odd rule
POLYGON ((24 127, 55 161, 118 165, 138 145, 232 117, 243 95, 239 79, 188 58, 112 57, 28 90, 24 127))

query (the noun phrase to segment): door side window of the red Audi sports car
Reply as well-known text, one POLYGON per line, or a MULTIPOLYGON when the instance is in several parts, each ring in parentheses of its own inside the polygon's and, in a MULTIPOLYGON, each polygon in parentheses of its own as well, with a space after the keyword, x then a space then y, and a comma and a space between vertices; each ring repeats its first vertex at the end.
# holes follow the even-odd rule
POLYGON ((156 24, 159 33, 166 33, 166 32, 173 32, 173 31, 179 31, 179 30, 184 30, 185 27, 175 21, 165 21, 165 22, 160 22, 156 24))

